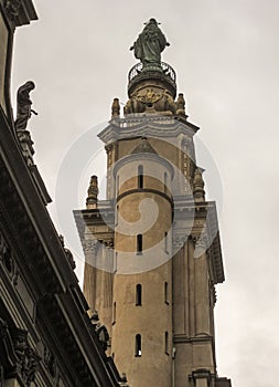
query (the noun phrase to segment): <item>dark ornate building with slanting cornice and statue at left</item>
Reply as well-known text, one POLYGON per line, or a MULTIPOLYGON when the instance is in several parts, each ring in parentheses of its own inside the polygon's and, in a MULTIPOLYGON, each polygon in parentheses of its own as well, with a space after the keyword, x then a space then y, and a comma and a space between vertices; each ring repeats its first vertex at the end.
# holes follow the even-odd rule
POLYGON ((127 386, 87 314, 75 263, 46 210, 51 198, 26 129, 29 81, 10 103, 13 34, 31 0, 0 1, 0 386, 127 386))

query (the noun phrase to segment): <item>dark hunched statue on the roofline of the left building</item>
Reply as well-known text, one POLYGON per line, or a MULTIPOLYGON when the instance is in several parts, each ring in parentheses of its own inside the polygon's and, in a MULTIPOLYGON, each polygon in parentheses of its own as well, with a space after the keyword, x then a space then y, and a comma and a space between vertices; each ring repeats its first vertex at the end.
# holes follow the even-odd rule
POLYGON ((17 95, 18 111, 17 111, 17 119, 14 123, 17 130, 25 130, 28 126, 28 121, 31 117, 31 114, 34 113, 37 115, 35 111, 31 108, 32 101, 30 100, 30 92, 35 88, 35 84, 32 81, 28 81, 24 85, 20 86, 17 95))

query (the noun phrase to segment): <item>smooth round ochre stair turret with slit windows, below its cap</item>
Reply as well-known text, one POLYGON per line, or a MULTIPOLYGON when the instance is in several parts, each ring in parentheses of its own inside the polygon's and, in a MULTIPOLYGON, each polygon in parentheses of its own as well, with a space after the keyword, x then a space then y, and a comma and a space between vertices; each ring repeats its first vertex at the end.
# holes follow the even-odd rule
POLYGON ((157 380, 158 386, 169 387, 172 200, 164 180, 171 181, 172 170, 158 155, 139 153, 120 159, 115 175, 117 271, 111 353, 129 375, 131 386, 148 386, 157 380))

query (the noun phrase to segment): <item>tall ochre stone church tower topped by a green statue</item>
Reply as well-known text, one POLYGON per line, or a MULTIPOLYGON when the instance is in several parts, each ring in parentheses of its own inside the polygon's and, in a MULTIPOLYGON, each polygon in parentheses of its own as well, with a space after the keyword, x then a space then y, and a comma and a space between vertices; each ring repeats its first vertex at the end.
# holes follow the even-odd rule
POLYGON ((230 387, 215 360, 215 285, 224 281, 215 202, 206 201, 183 94, 161 62, 169 45, 150 19, 131 50, 128 102, 98 135, 107 198, 93 176, 75 220, 84 293, 129 386, 230 387))

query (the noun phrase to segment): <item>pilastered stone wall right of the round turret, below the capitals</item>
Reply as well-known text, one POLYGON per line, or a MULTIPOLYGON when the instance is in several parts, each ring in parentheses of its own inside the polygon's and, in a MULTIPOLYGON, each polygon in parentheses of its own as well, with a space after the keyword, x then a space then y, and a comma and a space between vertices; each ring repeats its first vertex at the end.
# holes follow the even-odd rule
POLYGON ((193 240, 173 258, 174 379, 178 387, 194 385, 193 379, 185 377, 194 369, 216 373, 207 261, 206 253, 194 257, 193 240))

